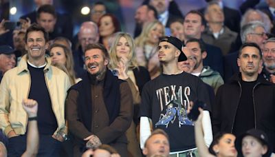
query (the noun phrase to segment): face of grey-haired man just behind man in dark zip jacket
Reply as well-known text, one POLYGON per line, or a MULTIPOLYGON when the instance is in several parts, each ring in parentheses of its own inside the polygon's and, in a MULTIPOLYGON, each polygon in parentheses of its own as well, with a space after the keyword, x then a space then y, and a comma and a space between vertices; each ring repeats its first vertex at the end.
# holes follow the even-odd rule
POLYGON ((246 42, 256 43, 263 50, 263 45, 267 40, 267 35, 265 34, 265 29, 261 26, 256 27, 253 33, 248 34, 246 42))

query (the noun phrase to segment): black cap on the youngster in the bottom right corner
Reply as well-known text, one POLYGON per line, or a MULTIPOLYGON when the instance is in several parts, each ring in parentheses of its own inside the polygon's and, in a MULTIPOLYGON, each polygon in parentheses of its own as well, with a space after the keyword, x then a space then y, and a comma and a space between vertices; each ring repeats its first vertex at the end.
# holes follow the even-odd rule
POLYGON ((267 134, 265 132, 261 131, 260 129, 250 129, 244 134, 241 134, 241 136, 238 136, 235 140, 235 147, 236 150, 238 151, 241 156, 243 156, 243 152, 241 151, 241 145, 242 145, 242 140, 245 136, 252 136, 258 140, 261 141, 264 145, 267 145, 267 153, 263 154, 264 157, 270 157, 272 153, 272 148, 270 143, 268 142, 267 134))

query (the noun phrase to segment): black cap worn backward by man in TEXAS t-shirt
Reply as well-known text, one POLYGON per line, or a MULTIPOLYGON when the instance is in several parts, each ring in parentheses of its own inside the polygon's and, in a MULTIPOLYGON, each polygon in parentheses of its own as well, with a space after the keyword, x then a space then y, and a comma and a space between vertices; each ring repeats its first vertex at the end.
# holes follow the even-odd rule
POLYGON ((186 61, 187 57, 184 54, 184 52, 181 50, 182 47, 184 47, 184 43, 182 43, 181 40, 177 39, 174 36, 164 36, 161 39, 159 39, 159 43, 166 41, 168 43, 171 43, 172 45, 174 45, 181 53, 179 54, 179 59, 178 61, 186 61))

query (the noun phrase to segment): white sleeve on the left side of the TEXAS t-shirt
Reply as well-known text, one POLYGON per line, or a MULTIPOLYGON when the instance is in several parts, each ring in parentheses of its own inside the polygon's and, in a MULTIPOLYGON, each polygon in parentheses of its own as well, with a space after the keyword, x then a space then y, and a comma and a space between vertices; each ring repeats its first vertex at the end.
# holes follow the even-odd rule
POLYGON ((150 120, 146 116, 140 117, 140 148, 144 149, 147 138, 151 135, 150 120))

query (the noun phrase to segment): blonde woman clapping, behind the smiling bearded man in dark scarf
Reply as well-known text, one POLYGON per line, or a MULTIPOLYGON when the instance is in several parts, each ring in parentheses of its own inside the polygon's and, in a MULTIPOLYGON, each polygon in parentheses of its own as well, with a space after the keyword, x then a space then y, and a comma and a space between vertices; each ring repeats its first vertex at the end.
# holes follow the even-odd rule
POLYGON ((150 81, 148 70, 139 67, 135 60, 135 45, 130 34, 118 32, 113 37, 113 43, 110 47, 109 68, 119 79, 129 83, 133 94, 134 116, 131 127, 126 132, 128 138, 128 156, 142 156, 136 136, 136 126, 138 125, 138 112, 140 107, 140 93, 143 85, 150 81))

